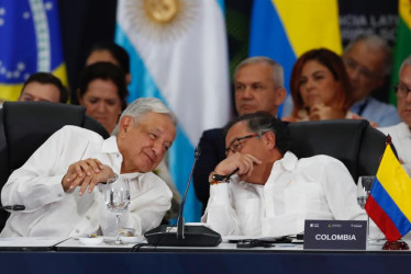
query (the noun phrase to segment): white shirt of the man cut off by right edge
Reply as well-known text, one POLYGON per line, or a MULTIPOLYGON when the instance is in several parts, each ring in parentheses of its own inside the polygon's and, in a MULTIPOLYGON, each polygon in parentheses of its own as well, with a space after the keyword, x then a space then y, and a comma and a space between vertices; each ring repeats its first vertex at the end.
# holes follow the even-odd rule
POLYGON ((406 123, 395 126, 378 128, 385 135, 391 136, 391 141, 397 149, 398 158, 402 168, 411 176, 411 130, 406 123))

